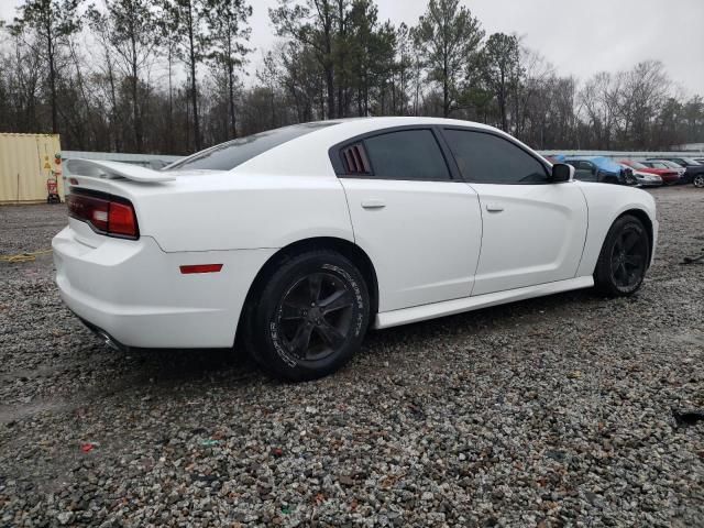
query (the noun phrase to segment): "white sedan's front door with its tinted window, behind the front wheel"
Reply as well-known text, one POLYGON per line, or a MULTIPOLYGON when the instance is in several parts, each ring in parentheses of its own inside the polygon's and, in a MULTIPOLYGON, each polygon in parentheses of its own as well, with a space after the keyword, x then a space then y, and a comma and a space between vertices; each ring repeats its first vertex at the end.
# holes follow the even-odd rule
POLYGON ((551 184, 548 166, 503 135, 446 129, 458 166, 480 197, 482 252, 472 295, 573 278, 586 238, 579 184, 551 184))

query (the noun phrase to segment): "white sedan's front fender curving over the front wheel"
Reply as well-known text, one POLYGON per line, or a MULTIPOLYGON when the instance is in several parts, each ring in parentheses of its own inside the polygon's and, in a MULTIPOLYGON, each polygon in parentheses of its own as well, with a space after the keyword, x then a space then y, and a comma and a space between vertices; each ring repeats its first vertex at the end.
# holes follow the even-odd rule
MULTIPOLYGON (((587 230, 582 262, 578 276, 594 273, 606 234, 614 221, 623 213, 638 209, 648 215, 653 227, 653 250, 658 237, 656 201, 649 193, 632 187, 608 184, 579 183, 587 205, 587 230)), ((653 251, 654 254, 654 251, 653 251)))

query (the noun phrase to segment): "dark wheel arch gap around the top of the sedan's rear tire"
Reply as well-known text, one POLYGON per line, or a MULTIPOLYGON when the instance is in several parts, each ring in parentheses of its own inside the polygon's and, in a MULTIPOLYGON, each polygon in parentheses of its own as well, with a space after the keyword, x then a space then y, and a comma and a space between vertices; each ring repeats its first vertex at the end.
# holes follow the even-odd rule
MULTIPOLYGON (((378 311, 378 280, 376 277, 376 270, 374 268, 374 264, 372 263, 370 256, 362 248, 354 244, 353 242, 350 242, 349 240, 338 239, 334 237, 315 237, 298 240, 282 248, 276 253, 274 253, 260 268, 256 276, 254 277, 254 280, 252 280, 250 289, 248 290, 244 305, 240 314, 240 322, 238 324, 237 332, 238 336, 240 334, 240 329, 242 328, 246 311, 252 306, 253 299, 256 298, 257 292, 262 290, 265 285, 266 278, 271 276, 273 271, 283 262, 286 262, 286 260, 311 250, 336 251, 349 258, 358 267, 358 270, 364 277, 370 294, 370 321, 374 320, 374 317, 378 311)), ((238 336, 235 336, 235 342, 238 336)))

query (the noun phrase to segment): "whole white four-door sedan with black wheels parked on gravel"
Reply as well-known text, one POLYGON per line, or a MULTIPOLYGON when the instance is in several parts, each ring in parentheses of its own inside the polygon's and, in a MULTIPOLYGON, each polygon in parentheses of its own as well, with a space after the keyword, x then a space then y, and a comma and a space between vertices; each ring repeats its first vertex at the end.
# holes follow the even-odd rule
POLYGON ((443 119, 298 124, 166 169, 72 161, 53 241, 66 305, 118 348, 241 342, 276 376, 343 365, 366 330, 578 288, 636 292, 652 197, 573 179, 443 119))

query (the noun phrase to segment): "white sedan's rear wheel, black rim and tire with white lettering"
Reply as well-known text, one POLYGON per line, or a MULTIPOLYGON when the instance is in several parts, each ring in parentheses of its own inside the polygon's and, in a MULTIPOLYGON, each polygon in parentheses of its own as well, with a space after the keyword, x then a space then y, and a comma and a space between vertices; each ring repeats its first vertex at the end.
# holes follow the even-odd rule
POLYGON ((283 261, 245 308, 244 345, 275 377, 317 380, 360 349, 370 320, 364 277, 346 257, 316 250, 283 261))

